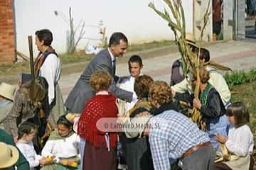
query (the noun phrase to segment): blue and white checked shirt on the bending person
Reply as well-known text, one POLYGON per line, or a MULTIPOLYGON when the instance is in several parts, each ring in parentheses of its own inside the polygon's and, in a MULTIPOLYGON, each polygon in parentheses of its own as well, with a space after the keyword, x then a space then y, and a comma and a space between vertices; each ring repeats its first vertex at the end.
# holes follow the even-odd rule
POLYGON ((149 120, 149 144, 154 169, 171 169, 170 159, 181 158, 191 147, 209 142, 205 132, 185 115, 164 111, 149 120))

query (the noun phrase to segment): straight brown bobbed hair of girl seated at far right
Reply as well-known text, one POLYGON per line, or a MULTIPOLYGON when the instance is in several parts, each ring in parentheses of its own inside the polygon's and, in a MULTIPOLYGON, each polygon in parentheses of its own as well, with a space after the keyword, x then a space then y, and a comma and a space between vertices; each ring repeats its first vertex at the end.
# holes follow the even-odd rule
POLYGON ((245 103, 240 101, 232 103, 227 109, 228 116, 235 117, 235 127, 240 127, 250 122, 250 114, 245 103))

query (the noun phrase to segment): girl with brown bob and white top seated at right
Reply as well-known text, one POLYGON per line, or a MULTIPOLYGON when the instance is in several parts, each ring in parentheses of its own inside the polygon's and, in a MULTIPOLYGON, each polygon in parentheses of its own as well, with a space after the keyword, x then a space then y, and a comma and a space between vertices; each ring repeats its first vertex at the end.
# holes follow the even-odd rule
POLYGON ((218 162, 215 170, 253 169, 253 135, 247 125, 250 120, 249 112, 242 102, 232 103, 227 109, 228 120, 233 125, 228 137, 216 135, 216 140, 225 144, 228 152, 239 156, 239 159, 228 162, 218 162))

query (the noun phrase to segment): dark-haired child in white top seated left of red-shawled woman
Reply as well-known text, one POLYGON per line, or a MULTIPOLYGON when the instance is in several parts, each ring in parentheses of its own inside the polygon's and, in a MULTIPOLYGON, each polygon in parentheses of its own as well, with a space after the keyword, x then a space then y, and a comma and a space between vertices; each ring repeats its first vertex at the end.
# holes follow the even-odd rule
POLYGON ((43 157, 55 157, 54 164, 42 169, 80 169, 79 145, 80 137, 73 131, 73 123, 65 115, 60 116, 56 130, 50 134, 42 150, 43 157))

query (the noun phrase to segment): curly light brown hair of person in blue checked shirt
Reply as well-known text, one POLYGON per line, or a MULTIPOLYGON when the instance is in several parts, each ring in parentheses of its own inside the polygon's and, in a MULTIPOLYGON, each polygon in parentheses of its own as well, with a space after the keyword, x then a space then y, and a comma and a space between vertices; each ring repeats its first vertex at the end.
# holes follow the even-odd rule
POLYGON ((171 102, 171 87, 165 81, 154 81, 149 87, 149 95, 159 105, 171 102))

